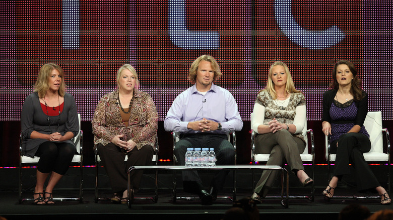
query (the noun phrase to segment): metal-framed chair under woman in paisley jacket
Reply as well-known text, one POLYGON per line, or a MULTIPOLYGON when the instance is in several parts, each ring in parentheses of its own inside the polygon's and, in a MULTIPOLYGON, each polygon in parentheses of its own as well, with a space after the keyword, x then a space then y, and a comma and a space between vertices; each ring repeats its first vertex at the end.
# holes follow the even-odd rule
MULTIPOLYGON (((157 165, 157 163, 158 163, 158 150, 159 150, 157 134, 156 134, 156 143, 154 144, 154 149, 155 149, 155 154, 153 154, 152 161, 154 162, 155 165, 157 165)), ((94 153, 95 153, 95 166, 96 166, 96 181, 95 181, 95 198, 94 198, 94 202, 97 203, 99 200, 110 200, 111 198, 109 198, 109 197, 98 197, 98 166, 99 166, 98 163, 101 162, 101 159, 100 159, 100 155, 98 154, 98 149, 97 148, 94 150, 94 153)), ((127 160, 128 160, 128 157, 127 157, 127 155, 125 155, 124 163, 126 163, 127 160)), ((155 178, 157 180, 158 171, 156 171, 155 175, 156 175, 155 178)), ((158 199, 157 190, 158 189, 157 189, 157 184, 156 184, 155 197, 154 198, 153 197, 135 197, 134 199, 135 200, 152 200, 153 202, 157 202, 157 199, 158 199)))

